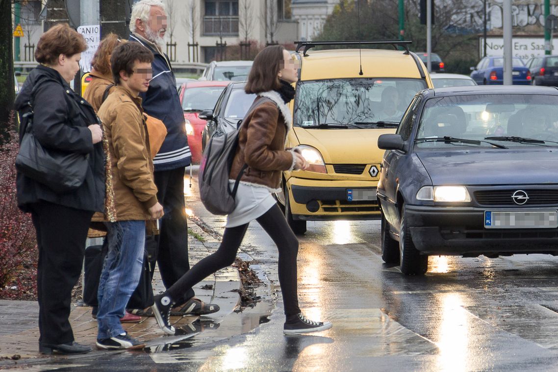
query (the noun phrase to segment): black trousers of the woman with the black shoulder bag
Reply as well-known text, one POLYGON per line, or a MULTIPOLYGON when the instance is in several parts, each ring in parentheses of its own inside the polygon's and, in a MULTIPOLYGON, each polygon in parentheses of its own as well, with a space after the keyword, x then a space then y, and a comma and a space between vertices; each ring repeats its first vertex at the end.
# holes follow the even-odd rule
POLYGON ((39 247, 39 342, 65 344, 74 341, 68 320, 71 291, 81 274, 93 212, 46 201, 33 204, 31 208, 39 247))

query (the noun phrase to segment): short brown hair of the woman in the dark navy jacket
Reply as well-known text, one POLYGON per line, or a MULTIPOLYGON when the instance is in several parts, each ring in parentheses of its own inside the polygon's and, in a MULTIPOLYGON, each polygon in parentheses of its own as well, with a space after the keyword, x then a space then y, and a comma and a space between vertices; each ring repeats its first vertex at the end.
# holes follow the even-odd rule
POLYGON ((85 49, 87 44, 83 36, 68 23, 61 23, 42 34, 35 50, 35 59, 42 64, 54 65, 61 54, 69 57, 85 49))

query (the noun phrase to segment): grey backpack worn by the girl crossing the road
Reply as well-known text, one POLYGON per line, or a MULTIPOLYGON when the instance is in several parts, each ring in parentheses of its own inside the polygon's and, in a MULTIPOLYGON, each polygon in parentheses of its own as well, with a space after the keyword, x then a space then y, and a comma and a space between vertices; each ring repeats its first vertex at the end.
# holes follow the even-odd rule
POLYGON ((231 191, 229 189, 229 174, 237 150, 238 133, 246 122, 248 115, 260 104, 270 101, 269 98, 257 100, 252 104, 237 129, 225 134, 215 132, 209 139, 201 157, 198 181, 201 202, 211 213, 228 215, 234 210, 236 206, 234 196, 237 194, 240 178, 248 167, 247 164, 244 164, 240 169, 231 191))

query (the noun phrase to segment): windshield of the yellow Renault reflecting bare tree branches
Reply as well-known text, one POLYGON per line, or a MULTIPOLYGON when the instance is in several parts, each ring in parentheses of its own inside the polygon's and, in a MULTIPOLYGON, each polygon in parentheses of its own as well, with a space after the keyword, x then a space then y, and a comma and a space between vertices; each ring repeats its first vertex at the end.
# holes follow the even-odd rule
POLYGON ((299 81, 294 125, 304 128, 383 128, 401 121, 421 79, 329 79, 299 81))

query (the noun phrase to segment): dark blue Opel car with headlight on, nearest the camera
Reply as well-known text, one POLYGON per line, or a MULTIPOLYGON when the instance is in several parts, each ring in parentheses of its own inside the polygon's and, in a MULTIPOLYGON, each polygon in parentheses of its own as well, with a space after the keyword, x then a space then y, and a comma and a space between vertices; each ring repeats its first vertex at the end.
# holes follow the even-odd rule
POLYGON ((382 258, 402 273, 429 255, 558 255, 558 89, 422 90, 378 147, 382 258))

